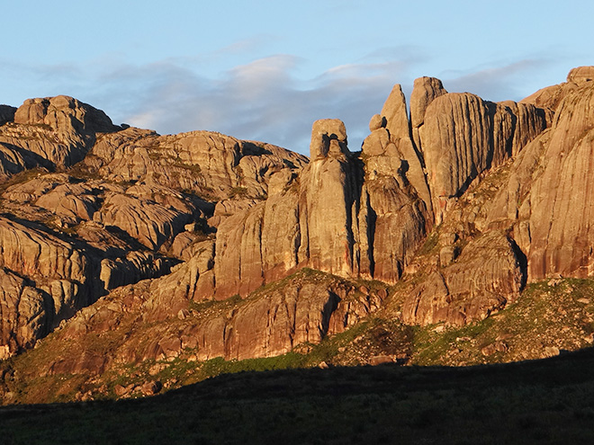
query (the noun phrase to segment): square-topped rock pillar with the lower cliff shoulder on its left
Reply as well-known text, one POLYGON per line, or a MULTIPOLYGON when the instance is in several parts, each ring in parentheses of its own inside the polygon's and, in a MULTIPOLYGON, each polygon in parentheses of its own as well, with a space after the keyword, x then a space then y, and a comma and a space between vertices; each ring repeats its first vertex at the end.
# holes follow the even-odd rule
POLYGON ((266 202, 220 224, 216 298, 246 296, 305 265, 345 277, 356 274, 357 183, 344 123, 316 121, 311 163, 299 180, 290 169, 272 175, 266 202))

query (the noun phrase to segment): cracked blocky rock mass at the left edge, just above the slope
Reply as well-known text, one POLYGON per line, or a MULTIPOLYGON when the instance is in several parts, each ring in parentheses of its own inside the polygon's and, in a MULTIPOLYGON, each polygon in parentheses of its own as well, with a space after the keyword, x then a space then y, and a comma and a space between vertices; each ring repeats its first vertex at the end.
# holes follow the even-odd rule
POLYGON ((73 245, 0 218, 4 358, 31 347, 52 327, 92 302, 88 260, 73 245))

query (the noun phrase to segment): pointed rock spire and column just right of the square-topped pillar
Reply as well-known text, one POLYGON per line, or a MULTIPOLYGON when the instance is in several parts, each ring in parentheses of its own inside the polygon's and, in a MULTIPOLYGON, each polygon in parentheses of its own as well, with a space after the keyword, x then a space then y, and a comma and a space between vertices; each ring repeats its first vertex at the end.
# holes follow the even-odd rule
MULTIPOLYGON (((384 105, 383 111, 400 111, 398 120, 401 128, 392 126, 392 132, 400 133, 401 138, 392 138, 392 132, 383 126, 373 129, 377 119, 373 118, 370 122, 372 134, 365 138, 363 144, 365 183, 359 213, 361 272, 388 282, 401 278, 408 260, 423 242, 431 220, 425 202, 417 194, 419 189, 428 192, 420 163, 417 164, 417 179, 422 182, 415 188, 408 179, 410 163, 399 149, 409 147, 413 159, 419 161, 407 137, 406 104, 399 92, 400 85, 397 85, 389 101, 393 102, 397 97, 400 106, 394 107, 393 103, 392 106, 384 105)), ((395 121, 396 113, 391 112, 390 115, 392 118, 385 118, 386 122, 395 121)))

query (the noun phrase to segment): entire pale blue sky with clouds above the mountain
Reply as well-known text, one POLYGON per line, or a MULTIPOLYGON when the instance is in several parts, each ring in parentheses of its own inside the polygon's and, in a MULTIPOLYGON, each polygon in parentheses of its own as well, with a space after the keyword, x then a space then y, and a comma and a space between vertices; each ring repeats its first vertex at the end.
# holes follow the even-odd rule
POLYGON ((67 94, 161 134, 210 129, 307 154, 351 150, 392 85, 519 100, 594 65, 590 0, 3 2, 0 102, 67 94))

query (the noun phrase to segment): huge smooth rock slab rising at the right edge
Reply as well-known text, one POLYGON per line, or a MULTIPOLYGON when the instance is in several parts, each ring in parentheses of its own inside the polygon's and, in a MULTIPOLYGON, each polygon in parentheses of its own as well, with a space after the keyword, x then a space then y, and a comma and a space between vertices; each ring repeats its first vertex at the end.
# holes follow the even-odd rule
POLYGON ((594 270, 588 185, 594 82, 586 78, 559 103, 552 128, 518 156, 491 211, 492 225, 514 228, 530 280, 555 274, 586 277, 594 270))

